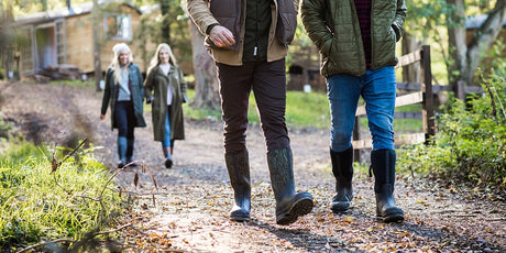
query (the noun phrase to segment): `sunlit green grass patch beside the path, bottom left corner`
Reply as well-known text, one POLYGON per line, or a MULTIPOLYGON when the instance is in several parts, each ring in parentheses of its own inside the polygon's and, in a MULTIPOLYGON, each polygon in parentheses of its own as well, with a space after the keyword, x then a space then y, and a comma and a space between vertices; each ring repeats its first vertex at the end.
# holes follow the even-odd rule
POLYGON ((121 211, 122 199, 109 190, 114 187, 108 185, 111 175, 90 151, 78 152, 78 162, 70 157, 54 173, 52 152, 43 147, 25 142, 10 144, 1 153, 2 252, 41 241, 78 240, 86 232, 107 227, 107 221, 121 211))

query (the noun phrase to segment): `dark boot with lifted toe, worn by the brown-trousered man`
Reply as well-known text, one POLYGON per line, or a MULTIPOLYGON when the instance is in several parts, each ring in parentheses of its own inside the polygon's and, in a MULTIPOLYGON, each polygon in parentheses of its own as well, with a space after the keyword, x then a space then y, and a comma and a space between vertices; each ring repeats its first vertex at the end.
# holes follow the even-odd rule
POLYGON ((292 150, 268 152, 267 164, 276 199, 276 223, 290 224, 311 212, 312 196, 306 191, 295 194, 292 150))

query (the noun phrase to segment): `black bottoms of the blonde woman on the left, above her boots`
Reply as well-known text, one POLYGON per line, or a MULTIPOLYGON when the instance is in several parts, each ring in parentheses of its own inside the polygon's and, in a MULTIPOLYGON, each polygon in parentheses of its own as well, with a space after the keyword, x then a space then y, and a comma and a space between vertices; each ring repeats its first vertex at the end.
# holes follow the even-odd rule
POLYGON ((114 108, 114 125, 118 128, 118 136, 133 139, 133 128, 135 127, 135 114, 133 102, 118 101, 114 108))

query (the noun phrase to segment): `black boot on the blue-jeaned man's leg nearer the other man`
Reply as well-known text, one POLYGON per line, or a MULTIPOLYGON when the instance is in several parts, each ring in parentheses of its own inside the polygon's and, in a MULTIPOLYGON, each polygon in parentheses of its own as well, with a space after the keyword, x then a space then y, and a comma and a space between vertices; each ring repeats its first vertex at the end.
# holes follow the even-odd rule
POLYGON ((333 213, 348 213, 353 199, 353 146, 343 152, 330 150, 332 174, 336 177, 337 195, 332 198, 330 209, 333 213))

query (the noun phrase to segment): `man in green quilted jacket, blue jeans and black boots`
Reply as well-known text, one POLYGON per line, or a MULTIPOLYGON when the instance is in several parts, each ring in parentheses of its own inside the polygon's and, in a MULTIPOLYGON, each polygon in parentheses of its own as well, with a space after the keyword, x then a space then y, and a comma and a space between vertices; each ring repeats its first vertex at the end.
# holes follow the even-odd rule
POLYGON ((404 0, 302 0, 302 23, 321 54, 331 114, 330 158, 337 195, 334 213, 345 213, 353 198, 351 139, 359 97, 365 101, 373 136, 376 217, 404 220, 395 206, 394 109, 397 64, 395 44, 404 33, 404 0))

